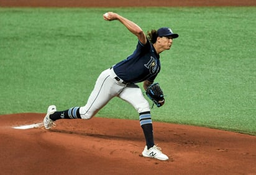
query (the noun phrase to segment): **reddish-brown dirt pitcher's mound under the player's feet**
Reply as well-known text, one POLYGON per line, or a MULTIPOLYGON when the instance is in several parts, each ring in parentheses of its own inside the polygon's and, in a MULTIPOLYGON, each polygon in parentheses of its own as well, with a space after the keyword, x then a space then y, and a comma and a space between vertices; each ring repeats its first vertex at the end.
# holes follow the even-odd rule
POLYGON ((256 137, 154 122, 155 143, 170 158, 144 158, 139 121, 73 119, 50 130, 45 114, 0 116, 1 174, 256 174, 256 137))

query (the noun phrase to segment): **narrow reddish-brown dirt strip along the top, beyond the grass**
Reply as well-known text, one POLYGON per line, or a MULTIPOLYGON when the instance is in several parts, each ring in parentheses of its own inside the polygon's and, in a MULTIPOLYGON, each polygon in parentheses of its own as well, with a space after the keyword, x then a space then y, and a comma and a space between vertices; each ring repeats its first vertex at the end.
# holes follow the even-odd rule
POLYGON ((256 0, 0 0, 1 7, 256 6, 256 0))

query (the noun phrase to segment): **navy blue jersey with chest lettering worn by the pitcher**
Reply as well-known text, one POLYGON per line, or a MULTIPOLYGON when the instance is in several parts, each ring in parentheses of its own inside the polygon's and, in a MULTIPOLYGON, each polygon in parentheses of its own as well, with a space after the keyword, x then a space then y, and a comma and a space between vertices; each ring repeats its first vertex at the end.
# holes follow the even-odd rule
POLYGON ((116 75, 126 82, 138 83, 144 80, 153 82, 160 72, 160 56, 149 40, 145 45, 138 41, 134 53, 118 62, 113 69, 116 75))

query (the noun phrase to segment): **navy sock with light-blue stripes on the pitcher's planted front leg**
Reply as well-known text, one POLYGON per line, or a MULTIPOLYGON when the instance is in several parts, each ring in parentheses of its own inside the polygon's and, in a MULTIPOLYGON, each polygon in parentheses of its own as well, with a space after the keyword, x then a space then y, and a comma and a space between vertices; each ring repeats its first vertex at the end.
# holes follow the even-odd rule
POLYGON ((143 129, 147 148, 155 145, 153 140, 153 125, 150 112, 140 113, 140 126, 143 129))

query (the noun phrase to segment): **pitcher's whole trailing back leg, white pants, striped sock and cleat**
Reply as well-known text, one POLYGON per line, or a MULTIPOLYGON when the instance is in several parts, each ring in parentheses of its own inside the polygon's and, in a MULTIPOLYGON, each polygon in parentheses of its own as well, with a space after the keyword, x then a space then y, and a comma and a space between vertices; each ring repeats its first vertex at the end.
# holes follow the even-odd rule
POLYGON ((109 69, 104 70, 101 75, 99 75, 94 85, 93 92, 91 92, 85 106, 74 107, 66 109, 65 111, 57 111, 54 105, 49 106, 43 124, 46 129, 50 129, 54 124, 53 121, 58 119, 90 119, 99 109, 103 108, 111 98, 117 96, 122 88, 124 87, 117 85, 109 76, 109 69))

